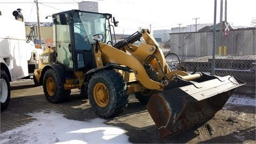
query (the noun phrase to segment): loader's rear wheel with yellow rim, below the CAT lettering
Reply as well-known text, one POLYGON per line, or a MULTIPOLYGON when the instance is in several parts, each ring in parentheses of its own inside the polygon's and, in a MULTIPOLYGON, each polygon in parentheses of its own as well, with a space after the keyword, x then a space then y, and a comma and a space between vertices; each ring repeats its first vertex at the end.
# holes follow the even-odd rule
POLYGON ((70 90, 65 90, 64 85, 58 81, 55 70, 47 69, 43 78, 44 95, 51 103, 67 101, 70 97, 70 90))

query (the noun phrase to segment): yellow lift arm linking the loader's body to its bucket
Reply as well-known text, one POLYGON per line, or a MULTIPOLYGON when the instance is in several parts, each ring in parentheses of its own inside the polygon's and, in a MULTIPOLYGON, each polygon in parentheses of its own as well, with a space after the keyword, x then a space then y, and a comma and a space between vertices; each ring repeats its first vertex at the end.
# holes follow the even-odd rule
MULTIPOLYGON (((185 80, 201 77, 199 74, 192 76, 185 71, 171 71, 166 63, 161 46, 158 45, 155 38, 147 29, 142 29, 141 35, 145 39, 146 44, 140 44, 140 46, 127 43, 123 47, 118 45, 118 48, 116 48, 99 42, 103 62, 115 61, 116 63, 131 68, 138 81, 150 90, 163 91, 163 87, 167 83, 170 83, 174 76, 179 76, 185 80), (130 53, 127 53, 127 51, 130 53), (157 78, 164 83, 153 81, 146 73, 143 65, 151 65, 155 73, 158 73, 157 78)), ((138 35, 134 35, 134 37, 138 38, 138 35)), ((126 42, 126 40, 124 42, 126 42)))

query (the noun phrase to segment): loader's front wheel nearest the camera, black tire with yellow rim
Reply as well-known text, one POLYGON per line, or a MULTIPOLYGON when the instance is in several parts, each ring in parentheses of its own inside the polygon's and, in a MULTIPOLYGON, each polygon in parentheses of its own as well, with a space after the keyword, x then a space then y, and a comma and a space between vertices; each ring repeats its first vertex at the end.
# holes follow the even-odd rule
POLYGON ((127 106, 127 85, 123 77, 113 70, 94 74, 88 86, 88 98, 95 113, 101 117, 113 117, 127 106))

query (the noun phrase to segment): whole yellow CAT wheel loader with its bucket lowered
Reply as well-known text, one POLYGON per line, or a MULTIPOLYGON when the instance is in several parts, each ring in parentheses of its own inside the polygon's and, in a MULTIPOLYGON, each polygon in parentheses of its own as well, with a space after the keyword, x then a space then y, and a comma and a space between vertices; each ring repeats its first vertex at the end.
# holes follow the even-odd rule
POLYGON ((235 88, 245 84, 230 75, 171 71, 148 29, 121 39, 111 14, 70 10, 52 19, 54 44, 40 55, 35 70, 49 102, 65 102, 71 89, 80 89, 95 113, 114 117, 134 94, 166 139, 209 121, 235 88), (137 41, 143 43, 138 46, 137 41))

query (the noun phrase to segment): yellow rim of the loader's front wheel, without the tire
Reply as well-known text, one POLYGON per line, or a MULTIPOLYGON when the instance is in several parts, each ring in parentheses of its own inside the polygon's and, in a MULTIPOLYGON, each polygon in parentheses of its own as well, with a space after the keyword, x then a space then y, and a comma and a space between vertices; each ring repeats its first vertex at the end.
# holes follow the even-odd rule
POLYGON ((105 107, 109 102, 108 89, 105 84, 98 83, 93 89, 93 98, 98 106, 105 107))

